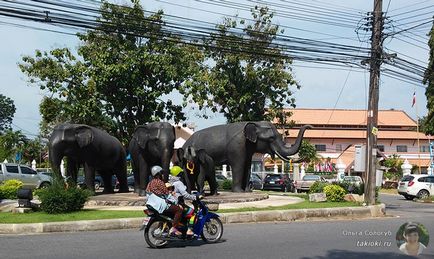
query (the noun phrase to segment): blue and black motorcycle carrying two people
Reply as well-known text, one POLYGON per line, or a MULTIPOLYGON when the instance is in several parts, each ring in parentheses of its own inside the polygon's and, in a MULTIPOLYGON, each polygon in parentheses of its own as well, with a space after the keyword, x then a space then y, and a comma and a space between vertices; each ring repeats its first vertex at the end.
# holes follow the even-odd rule
POLYGON ((152 207, 147 206, 144 210, 147 215, 143 221, 140 230, 145 230, 144 236, 146 243, 151 248, 162 248, 171 241, 193 241, 202 239, 207 243, 216 243, 223 236, 223 223, 219 215, 209 210, 208 206, 201 200, 197 200, 195 204, 195 221, 193 225, 193 236, 187 236, 187 224, 185 219, 181 221, 178 230, 182 233, 181 236, 169 235, 169 230, 172 227, 172 218, 165 213, 158 213, 152 207))

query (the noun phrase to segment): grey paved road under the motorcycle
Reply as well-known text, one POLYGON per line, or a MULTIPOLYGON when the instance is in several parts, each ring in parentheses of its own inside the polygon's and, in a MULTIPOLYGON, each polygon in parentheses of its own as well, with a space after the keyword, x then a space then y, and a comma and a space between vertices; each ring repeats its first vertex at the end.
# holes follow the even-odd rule
MULTIPOLYGON (((434 204, 381 196, 399 217, 278 224, 225 225, 218 244, 195 241, 149 249, 138 230, 0 236, 0 258, 411 258, 400 255, 395 235, 414 220, 434 233, 434 204), (414 211, 414 213, 413 213, 414 211)), ((419 258, 434 258, 434 245, 419 258)))

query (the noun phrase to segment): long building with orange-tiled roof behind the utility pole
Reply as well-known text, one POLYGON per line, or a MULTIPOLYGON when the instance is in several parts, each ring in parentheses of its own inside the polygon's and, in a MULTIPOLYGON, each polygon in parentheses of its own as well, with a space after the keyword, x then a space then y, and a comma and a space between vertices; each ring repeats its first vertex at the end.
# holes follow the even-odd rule
MULTIPOLYGON (((366 143, 366 110, 288 109, 293 128, 286 129, 287 143, 294 143, 299 128, 310 124, 314 129, 305 132, 305 139, 315 146, 323 158, 322 165, 342 162, 346 171, 354 165, 355 146, 366 143)), ((404 111, 378 112, 378 150, 389 157, 399 155, 410 164, 426 172, 430 164, 429 136, 417 132, 417 123, 404 111)))

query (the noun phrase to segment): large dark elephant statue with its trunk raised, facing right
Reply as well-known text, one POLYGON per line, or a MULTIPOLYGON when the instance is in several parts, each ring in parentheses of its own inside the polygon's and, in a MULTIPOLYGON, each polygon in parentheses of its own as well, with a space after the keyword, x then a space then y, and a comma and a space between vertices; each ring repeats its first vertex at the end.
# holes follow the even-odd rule
POLYGON ((276 127, 269 121, 235 122, 199 130, 185 142, 183 149, 203 149, 215 165, 229 164, 232 168, 232 191, 249 191, 250 165, 254 153, 268 153, 288 161, 298 152, 306 129, 300 129, 294 145, 288 147, 276 127))

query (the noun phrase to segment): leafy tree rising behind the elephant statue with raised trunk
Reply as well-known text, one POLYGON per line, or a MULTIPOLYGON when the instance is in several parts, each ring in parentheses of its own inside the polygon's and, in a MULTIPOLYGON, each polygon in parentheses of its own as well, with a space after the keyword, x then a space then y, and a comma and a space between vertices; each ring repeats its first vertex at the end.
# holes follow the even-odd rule
POLYGON ((273 119, 270 111, 294 105, 289 86, 299 87, 290 72, 291 58, 274 44, 279 26, 271 23, 273 14, 256 6, 252 16, 251 24, 226 18, 217 26, 205 42, 210 65, 200 78, 203 84, 186 94, 200 109, 221 112, 228 122, 273 119))

